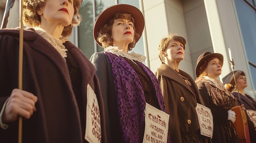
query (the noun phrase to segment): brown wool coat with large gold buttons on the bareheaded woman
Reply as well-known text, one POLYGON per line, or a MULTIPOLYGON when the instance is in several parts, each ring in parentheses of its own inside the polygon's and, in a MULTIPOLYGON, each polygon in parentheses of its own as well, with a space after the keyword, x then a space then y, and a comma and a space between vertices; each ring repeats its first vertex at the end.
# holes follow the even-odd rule
POLYGON ((172 143, 182 143, 181 132, 195 132, 200 129, 195 107, 197 103, 204 105, 193 78, 182 70, 179 72, 189 78, 196 95, 184 79, 168 65, 162 64, 155 73, 162 89, 167 113, 170 114, 169 131, 172 143))

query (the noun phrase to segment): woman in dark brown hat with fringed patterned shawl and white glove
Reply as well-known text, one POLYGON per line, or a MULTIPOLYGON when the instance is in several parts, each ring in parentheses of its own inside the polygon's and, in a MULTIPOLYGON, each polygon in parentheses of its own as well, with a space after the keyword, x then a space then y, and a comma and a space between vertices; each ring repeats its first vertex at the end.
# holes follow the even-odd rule
POLYGON ((230 110, 236 106, 235 97, 218 81, 221 74, 223 56, 205 52, 198 57, 195 73, 200 94, 205 106, 213 114, 213 143, 239 143, 234 126, 236 114, 230 110))

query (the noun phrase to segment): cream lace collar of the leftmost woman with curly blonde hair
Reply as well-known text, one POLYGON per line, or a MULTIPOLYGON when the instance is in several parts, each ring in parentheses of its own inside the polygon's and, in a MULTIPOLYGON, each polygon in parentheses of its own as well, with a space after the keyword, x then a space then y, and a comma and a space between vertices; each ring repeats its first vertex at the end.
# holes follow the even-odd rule
POLYGON ((47 42, 52 44, 52 46, 61 54, 62 58, 67 57, 67 49, 63 45, 67 40, 67 38, 61 37, 60 39, 54 38, 52 35, 48 34, 45 30, 41 29, 40 27, 34 27, 35 31, 41 35, 47 42))

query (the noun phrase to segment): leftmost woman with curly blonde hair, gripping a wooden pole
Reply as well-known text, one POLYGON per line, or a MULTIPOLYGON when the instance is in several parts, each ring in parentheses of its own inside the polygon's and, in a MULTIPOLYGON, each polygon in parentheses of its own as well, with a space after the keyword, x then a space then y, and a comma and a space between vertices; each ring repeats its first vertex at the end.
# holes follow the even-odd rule
POLYGON ((1 143, 18 142, 18 116, 24 118, 24 143, 106 142, 95 68, 67 39, 81 21, 80 5, 81 0, 23 0, 22 90, 16 89, 19 29, 0 30, 1 143))

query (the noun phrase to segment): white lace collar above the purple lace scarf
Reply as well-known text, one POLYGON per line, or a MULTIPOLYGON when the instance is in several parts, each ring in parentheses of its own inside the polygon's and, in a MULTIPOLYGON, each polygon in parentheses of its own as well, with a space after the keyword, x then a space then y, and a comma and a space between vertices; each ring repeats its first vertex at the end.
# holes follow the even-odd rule
POLYGON ((104 51, 113 53, 117 56, 126 57, 127 59, 135 60, 138 62, 144 62, 146 59, 144 55, 140 55, 135 52, 125 53, 123 52, 123 50, 119 50, 118 47, 115 47, 115 46, 108 46, 107 48, 104 49, 104 51))

